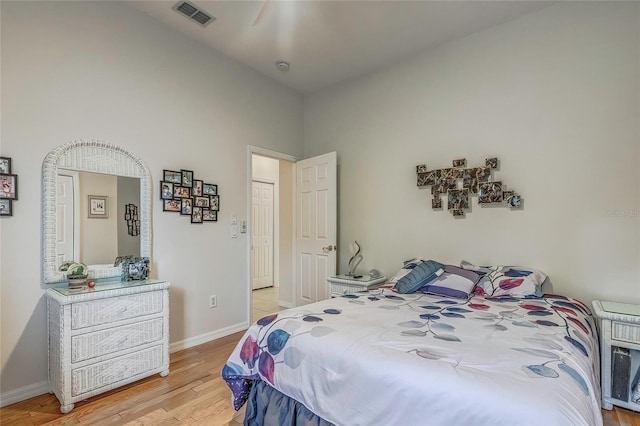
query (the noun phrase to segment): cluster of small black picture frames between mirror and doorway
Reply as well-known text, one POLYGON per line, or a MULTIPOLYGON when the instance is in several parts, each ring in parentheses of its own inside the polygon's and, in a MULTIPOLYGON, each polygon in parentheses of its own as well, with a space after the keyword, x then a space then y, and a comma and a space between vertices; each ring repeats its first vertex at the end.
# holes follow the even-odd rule
POLYGON ((218 185, 194 179, 192 170, 164 170, 160 199, 163 211, 189 216, 191 223, 218 221, 218 185))

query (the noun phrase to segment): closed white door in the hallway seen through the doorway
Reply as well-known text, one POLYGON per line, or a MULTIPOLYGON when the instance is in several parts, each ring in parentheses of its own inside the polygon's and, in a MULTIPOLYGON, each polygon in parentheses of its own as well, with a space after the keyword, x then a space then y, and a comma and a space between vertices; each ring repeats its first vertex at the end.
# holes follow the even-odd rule
POLYGON ((251 193, 252 286, 256 290, 273 286, 273 184, 253 181, 251 193))

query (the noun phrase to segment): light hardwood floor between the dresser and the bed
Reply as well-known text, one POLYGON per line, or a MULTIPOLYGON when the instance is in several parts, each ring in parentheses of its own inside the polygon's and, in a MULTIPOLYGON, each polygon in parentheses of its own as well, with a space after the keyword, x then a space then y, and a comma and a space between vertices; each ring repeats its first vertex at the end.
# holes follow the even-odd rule
MULTIPOLYGON (((267 291, 259 291, 267 297, 267 291)), ((261 317, 255 300, 253 316, 261 317)), ((233 410, 231 392, 220 371, 242 334, 173 353, 167 377, 155 375, 78 402, 69 414, 61 414, 56 397, 45 394, 1 408, 0 424, 238 426, 244 409, 233 410)), ((640 414, 633 411, 616 407, 602 414, 605 426, 640 426, 640 414)))

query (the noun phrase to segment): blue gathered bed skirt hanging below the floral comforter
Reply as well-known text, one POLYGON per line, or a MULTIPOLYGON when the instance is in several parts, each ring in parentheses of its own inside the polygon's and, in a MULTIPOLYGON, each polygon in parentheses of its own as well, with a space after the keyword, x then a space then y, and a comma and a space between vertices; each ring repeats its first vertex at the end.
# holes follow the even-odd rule
POLYGON ((307 407, 278 392, 262 380, 254 380, 247 400, 245 426, 333 426, 307 407))

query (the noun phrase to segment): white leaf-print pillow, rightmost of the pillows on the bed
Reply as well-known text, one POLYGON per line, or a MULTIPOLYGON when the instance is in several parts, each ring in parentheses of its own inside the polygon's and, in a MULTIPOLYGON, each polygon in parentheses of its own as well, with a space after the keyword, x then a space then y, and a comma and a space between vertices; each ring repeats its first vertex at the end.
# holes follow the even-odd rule
POLYGON ((544 272, 522 266, 475 266, 462 261, 460 266, 482 275, 476 285, 476 296, 541 297, 544 272))

